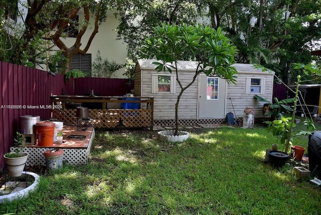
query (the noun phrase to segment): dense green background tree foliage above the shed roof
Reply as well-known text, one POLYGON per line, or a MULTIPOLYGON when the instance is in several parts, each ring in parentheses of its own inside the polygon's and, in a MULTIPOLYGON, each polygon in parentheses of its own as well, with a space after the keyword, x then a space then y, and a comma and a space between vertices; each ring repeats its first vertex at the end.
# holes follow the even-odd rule
POLYGON ((129 53, 136 53, 143 35, 162 22, 198 22, 226 32, 239 50, 237 62, 262 64, 286 83, 296 79, 293 62, 318 59, 310 51, 312 42, 320 40, 320 0, 153 0, 121 9, 117 32, 129 53))

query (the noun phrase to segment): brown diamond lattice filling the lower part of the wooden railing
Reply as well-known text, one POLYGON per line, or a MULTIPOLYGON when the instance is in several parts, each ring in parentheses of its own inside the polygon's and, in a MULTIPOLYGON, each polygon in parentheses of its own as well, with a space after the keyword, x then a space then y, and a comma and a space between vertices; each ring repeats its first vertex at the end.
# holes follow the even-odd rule
MULTIPOLYGON (((95 128, 115 128, 121 122, 128 128, 152 126, 151 109, 93 109, 88 110, 88 113, 89 118, 94 121, 95 128)), ((53 110, 53 118, 64 122, 65 125, 77 125, 75 109, 53 110)))

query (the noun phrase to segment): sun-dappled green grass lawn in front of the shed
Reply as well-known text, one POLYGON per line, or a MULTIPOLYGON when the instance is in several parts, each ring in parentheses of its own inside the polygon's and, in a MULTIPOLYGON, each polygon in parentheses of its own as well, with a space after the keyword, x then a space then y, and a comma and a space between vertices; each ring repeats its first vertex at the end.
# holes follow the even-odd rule
POLYGON ((293 162, 264 163, 276 141, 264 127, 190 132, 165 143, 150 131, 96 131, 88 165, 42 175, 39 189, 0 214, 320 214, 320 188, 297 179, 293 162))

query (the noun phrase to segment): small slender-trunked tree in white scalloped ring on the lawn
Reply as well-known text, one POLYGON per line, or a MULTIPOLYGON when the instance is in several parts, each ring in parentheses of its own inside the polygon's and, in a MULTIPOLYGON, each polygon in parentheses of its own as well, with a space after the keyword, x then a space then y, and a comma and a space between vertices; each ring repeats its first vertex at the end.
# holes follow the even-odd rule
MULTIPOLYGON (((188 135, 187 132, 178 131, 179 102, 183 92, 188 89, 197 79, 199 74, 205 73, 207 76, 218 76, 225 79, 228 83, 235 83, 235 63, 234 55, 237 49, 225 37, 221 28, 217 30, 202 25, 169 25, 163 23, 153 29, 150 37, 145 38, 141 54, 139 57, 155 59, 157 72, 168 71, 176 73, 176 81, 181 91, 178 93, 175 104, 175 131, 162 131, 159 136, 163 140, 175 142, 178 138, 167 138, 166 136, 188 135), (183 85, 181 80, 186 79, 178 71, 180 60, 193 59, 197 62, 195 72, 191 81, 183 85), (173 140, 173 141, 172 141, 173 140)), ((185 138, 181 138, 185 140, 185 138)))

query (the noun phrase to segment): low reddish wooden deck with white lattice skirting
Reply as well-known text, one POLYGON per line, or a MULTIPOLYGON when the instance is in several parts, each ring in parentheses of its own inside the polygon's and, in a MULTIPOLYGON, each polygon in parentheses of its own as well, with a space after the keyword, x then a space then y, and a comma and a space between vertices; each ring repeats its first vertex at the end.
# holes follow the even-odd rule
MULTIPOLYGON (((94 127, 88 126, 86 131, 78 131, 77 126, 64 126, 63 127, 63 140, 62 144, 54 142, 52 146, 39 146, 26 145, 24 152, 29 153, 26 166, 46 165, 44 152, 53 149, 63 149, 63 161, 74 165, 87 164, 88 156, 90 154, 91 144, 95 137, 94 127), (82 135, 84 138, 70 138, 71 135, 82 135)), ((11 147, 10 150, 14 151, 17 147, 11 147)))

